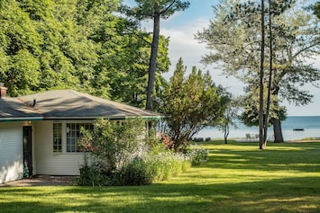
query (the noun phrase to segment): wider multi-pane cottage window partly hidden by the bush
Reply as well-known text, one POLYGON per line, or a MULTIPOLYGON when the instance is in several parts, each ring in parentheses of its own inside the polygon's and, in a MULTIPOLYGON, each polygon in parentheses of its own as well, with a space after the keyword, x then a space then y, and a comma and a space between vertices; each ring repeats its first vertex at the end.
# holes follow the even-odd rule
POLYGON ((78 140, 81 138, 81 127, 93 131, 91 123, 67 123, 67 152, 80 152, 78 140))

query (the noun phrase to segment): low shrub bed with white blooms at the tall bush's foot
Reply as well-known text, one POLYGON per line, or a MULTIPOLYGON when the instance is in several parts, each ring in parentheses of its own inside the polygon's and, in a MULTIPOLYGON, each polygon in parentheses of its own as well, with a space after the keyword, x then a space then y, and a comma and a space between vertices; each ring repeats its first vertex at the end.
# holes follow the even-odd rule
POLYGON ((190 157, 170 151, 144 158, 135 157, 119 171, 109 173, 103 164, 87 163, 80 168, 77 184, 81 186, 148 185, 161 182, 187 171, 190 157))

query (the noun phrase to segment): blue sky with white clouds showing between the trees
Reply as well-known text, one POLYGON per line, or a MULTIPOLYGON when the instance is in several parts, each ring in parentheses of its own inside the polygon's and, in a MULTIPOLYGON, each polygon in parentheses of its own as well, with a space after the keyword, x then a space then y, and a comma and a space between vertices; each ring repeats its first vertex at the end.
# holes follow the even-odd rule
MULTIPOLYGON (((124 0, 124 2, 134 4, 133 0, 124 0)), ((209 25, 209 20, 213 18, 212 5, 217 4, 218 0, 189 0, 189 2, 190 6, 186 11, 175 13, 168 20, 161 20, 160 22, 160 33, 170 38, 169 58, 171 67, 169 73, 165 74, 164 77, 169 80, 178 58, 182 58, 187 70, 190 71, 193 66, 203 71, 208 70, 213 76, 215 84, 224 85, 230 93, 242 94, 243 84, 241 82, 233 77, 225 77, 214 65, 205 67, 200 63, 201 57, 208 52, 208 49, 206 49, 205 44, 199 44, 194 37, 197 31, 201 31, 209 25)), ((316 0, 306 2, 309 4, 316 2, 316 0)), ((143 22, 142 26, 147 31, 151 31, 152 22, 143 22)), ((312 62, 315 67, 320 68, 320 57, 315 58, 312 62)), ((296 107, 284 102, 288 109, 288 116, 320 115, 320 89, 313 86, 306 86, 304 89, 315 95, 313 102, 303 107, 296 107)))

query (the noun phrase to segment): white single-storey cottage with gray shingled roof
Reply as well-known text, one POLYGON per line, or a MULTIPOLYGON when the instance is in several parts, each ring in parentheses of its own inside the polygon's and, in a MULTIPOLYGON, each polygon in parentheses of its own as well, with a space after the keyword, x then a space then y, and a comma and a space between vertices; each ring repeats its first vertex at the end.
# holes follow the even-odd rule
POLYGON ((23 175, 78 175, 81 126, 93 128, 97 118, 125 120, 161 115, 73 90, 6 97, 0 86, 0 183, 23 175))

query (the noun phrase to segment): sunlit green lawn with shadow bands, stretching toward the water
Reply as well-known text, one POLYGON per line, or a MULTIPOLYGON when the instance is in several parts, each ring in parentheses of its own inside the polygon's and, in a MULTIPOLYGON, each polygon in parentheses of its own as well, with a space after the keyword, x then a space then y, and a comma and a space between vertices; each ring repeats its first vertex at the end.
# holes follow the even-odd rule
POLYGON ((320 212, 320 143, 205 146, 207 164, 168 182, 0 188, 0 212, 320 212))

